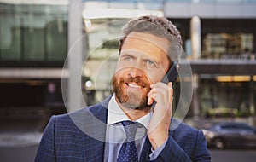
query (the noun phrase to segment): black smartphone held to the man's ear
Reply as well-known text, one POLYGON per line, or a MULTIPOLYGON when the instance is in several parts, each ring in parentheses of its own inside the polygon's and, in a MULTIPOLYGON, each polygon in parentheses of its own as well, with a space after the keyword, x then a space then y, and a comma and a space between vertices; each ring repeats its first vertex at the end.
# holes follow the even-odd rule
MULTIPOLYGON (((175 81, 177 79, 177 61, 173 61, 172 67, 166 72, 166 75, 164 78, 162 78, 161 82, 164 84, 168 84, 169 82, 172 82, 172 88, 173 85, 175 84, 175 81)), ((156 101, 152 103, 152 111, 154 112, 154 107, 155 107, 156 101)))

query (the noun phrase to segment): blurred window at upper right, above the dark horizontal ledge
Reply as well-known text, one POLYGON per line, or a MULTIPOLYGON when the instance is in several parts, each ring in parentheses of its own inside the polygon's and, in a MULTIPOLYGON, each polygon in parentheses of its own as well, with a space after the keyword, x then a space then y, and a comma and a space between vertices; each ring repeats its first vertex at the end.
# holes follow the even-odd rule
POLYGON ((253 33, 208 33, 203 38, 203 58, 249 59, 253 52, 253 33))

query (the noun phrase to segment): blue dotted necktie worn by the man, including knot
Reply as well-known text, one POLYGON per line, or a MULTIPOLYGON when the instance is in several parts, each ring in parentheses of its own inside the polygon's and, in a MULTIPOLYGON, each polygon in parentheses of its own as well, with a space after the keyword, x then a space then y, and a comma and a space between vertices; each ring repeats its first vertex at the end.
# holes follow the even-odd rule
POLYGON ((126 140, 123 143, 117 162, 136 162, 138 161, 137 149, 135 146, 135 135, 137 131, 137 123, 132 121, 122 121, 126 132, 126 140))

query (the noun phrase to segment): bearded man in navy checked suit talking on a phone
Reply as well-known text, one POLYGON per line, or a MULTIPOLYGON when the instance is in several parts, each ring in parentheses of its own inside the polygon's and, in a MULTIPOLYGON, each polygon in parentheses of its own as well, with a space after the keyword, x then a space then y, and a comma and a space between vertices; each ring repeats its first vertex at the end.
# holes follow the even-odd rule
POLYGON ((201 130, 187 124, 169 129, 177 124, 172 83, 160 81, 181 53, 180 34, 170 21, 156 16, 129 21, 119 38, 114 94, 53 116, 35 160, 211 161, 201 130))

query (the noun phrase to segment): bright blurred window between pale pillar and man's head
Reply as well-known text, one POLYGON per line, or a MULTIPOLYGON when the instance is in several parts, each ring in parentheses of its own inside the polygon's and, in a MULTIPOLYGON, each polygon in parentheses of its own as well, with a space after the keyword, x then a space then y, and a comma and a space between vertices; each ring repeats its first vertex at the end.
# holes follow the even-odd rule
POLYGON ((109 85, 118 59, 118 38, 127 20, 96 19, 90 20, 87 26, 90 56, 84 62, 83 89, 88 105, 102 101, 111 93, 109 85))

